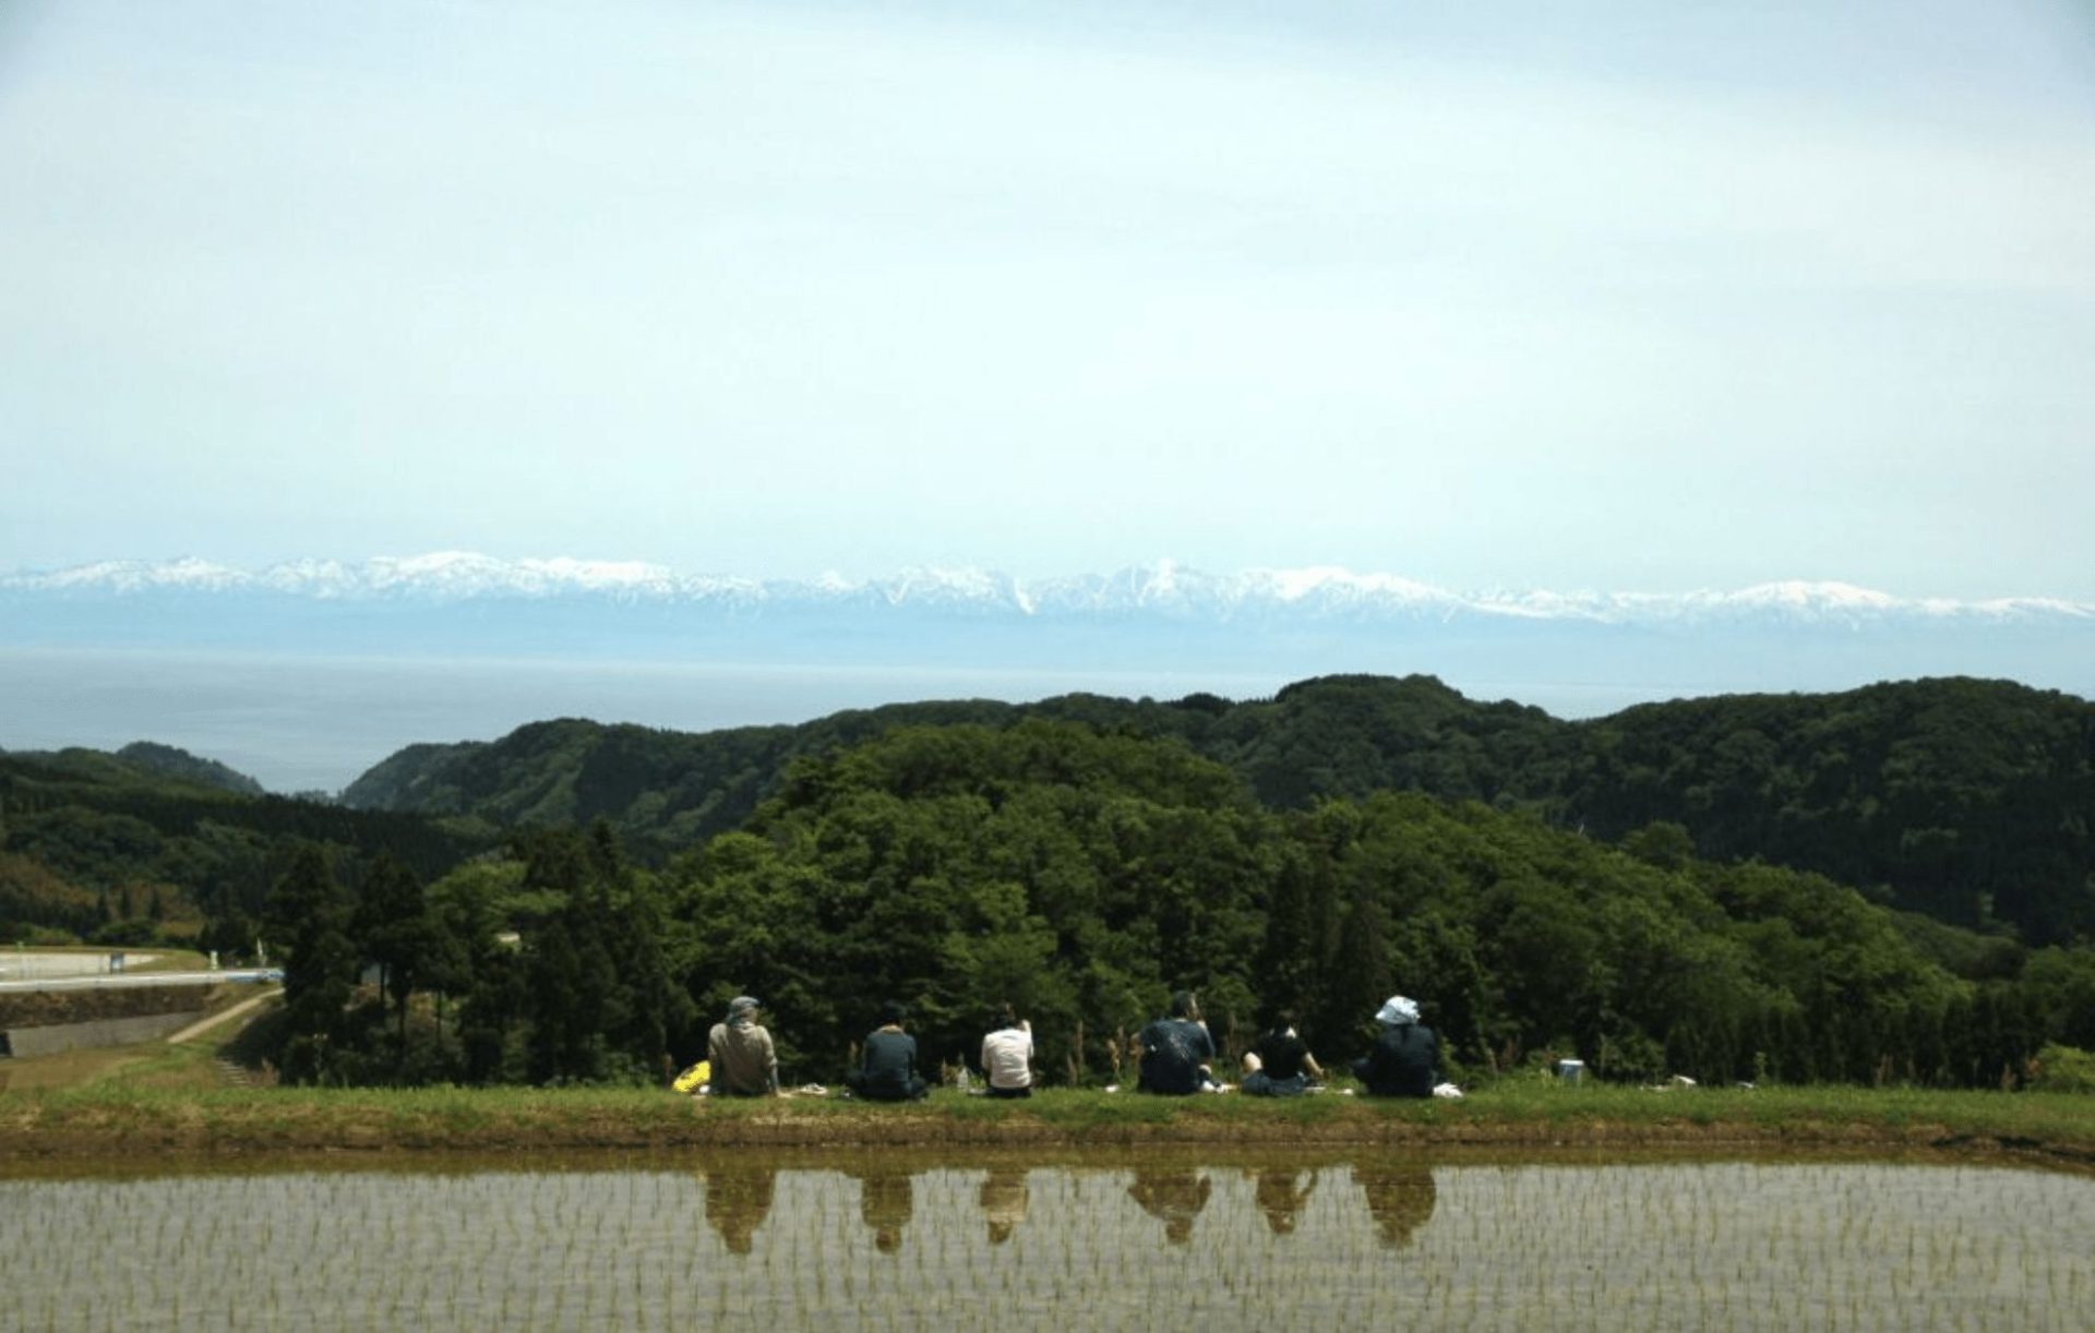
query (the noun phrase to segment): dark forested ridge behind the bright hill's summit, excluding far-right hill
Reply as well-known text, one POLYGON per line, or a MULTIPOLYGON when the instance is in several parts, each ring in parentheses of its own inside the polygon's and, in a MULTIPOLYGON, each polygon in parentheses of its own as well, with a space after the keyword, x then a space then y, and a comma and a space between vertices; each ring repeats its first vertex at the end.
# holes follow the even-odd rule
POLYGON ((559 719, 497 742, 409 746, 352 782, 341 803, 463 815, 490 828, 608 820, 629 849, 660 857, 740 828, 794 759, 895 727, 1010 727, 1029 717, 1186 740, 1244 775, 1261 803, 1284 809, 1387 788, 1498 801, 1513 771, 1544 761, 1563 767, 1573 748, 1569 723, 1540 708, 1467 700, 1433 677, 1322 677, 1257 702, 1211 694, 1171 702, 1098 694, 1035 704, 947 700, 721 731, 559 719))

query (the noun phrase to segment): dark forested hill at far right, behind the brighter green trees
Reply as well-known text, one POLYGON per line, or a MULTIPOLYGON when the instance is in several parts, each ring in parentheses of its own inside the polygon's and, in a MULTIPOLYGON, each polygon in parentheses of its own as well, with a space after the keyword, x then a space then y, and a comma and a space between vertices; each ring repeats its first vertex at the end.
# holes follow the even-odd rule
POLYGON ((2001 681, 1630 708, 1588 731, 1567 809, 1601 836, 1684 824, 2036 943, 2095 928, 2095 706, 2001 681))

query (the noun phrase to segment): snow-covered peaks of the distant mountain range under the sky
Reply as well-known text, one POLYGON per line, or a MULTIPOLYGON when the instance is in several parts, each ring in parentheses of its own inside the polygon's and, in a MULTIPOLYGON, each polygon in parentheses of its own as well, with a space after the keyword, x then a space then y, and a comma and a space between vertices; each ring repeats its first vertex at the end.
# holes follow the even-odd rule
MULTIPOLYGON (((314 604, 530 604, 597 602, 689 608, 696 614, 890 610, 1022 620, 1167 618, 1232 620, 1527 620, 1584 625, 1770 622, 1862 627, 1873 622, 2095 625, 2095 602, 2055 597, 1894 597, 1848 583, 1785 581, 1730 591, 1452 591, 1397 574, 1337 566, 1211 574, 1173 562, 1112 574, 1014 578, 978 568, 916 568, 884 578, 744 578, 679 574, 608 560, 497 560, 438 551, 365 562, 297 560, 239 570, 205 560, 103 562, 0 574, 0 604, 295 599, 314 604)), ((0 627, 4 633, 4 627, 0 627)))

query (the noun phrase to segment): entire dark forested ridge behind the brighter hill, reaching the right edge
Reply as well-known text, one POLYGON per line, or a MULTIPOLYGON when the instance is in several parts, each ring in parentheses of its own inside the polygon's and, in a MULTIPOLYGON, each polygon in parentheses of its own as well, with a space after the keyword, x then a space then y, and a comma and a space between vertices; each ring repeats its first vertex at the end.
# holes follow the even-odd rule
POLYGON ((551 721, 488 744, 413 746, 344 801, 490 832, 601 817, 660 861, 742 826, 794 759, 897 725, 1027 717, 1179 738, 1270 807, 1423 790, 1607 840, 1680 824, 1703 857, 1823 872, 1955 924, 2005 922, 2030 943, 2095 928, 2095 704, 2011 681, 1720 696, 1590 721, 1416 675, 1320 677, 1247 702, 895 704, 706 734, 551 721))

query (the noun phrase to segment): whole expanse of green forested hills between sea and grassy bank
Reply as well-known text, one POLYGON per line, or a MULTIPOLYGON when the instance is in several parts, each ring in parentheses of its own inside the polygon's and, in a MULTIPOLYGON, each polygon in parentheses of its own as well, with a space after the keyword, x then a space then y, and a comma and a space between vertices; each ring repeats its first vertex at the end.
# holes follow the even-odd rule
POLYGON ((1462 1077, 2022 1086, 2095 1048, 2091 746, 2089 704, 1986 681, 1563 723, 1332 677, 543 723, 346 792, 390 809, 10 755, 0 941, 151 928, 140 891, 264 935, 279 1063, 327 1081, 658 1079, 740 991, 790 1079, 895 998, 932 1061, 1012 1000, 1052 1077, 1106 1081, 1192 987, 1226 1048, 1291 1008, 1332 1061, 1406 991, 1462 1077))

